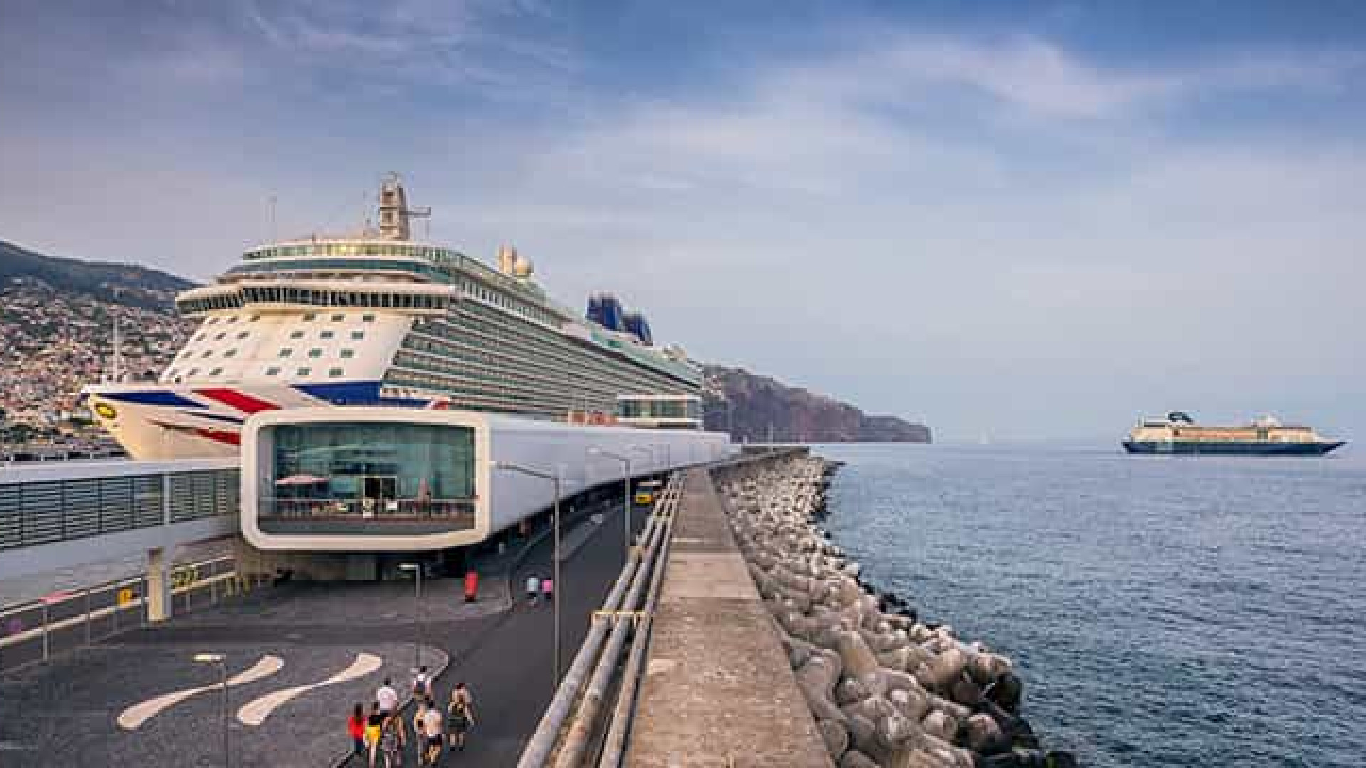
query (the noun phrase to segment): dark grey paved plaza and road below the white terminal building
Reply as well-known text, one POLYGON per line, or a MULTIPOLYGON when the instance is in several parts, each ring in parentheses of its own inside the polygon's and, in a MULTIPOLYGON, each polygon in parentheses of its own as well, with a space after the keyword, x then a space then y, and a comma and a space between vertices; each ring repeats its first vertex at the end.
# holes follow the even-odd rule
MULTIPOLYGON (((604 510, 564 563, 563 664, 587 631, 589 616, 607 596, 622 566, 620 508, 604 510)), ((646 514, 635 511, 637 526, 646 514)), ((464 604, 458 579, 423 584, 422 661, 444 667, 436 694, 443 704, 463 679, 475 701, 477 724, 464 753, 445 765, 510 765, 535 728, 552 696, 553 619, 541 601, 527 605, 508 594, 507 579, 550 573, 550 538, 537 543, 518 566, 512 553, 478 563, 481 601, 464 604)), ((514 590, 515 593, 519 590, 514 590)), ((280 704, 261 726, 232 723, 232 765, 291 768, 337 765, 348 752, 346 716, 369 704, 384 676, 400 693, 414 664, 411 582, 283 585, 261 596, 145 630, 46 666, 0 676, 0 765, 221 765, 221 697, 204 691, 167 708, 128 731, 116 719, 127 707, 176 690, 212 685, 217 670, 194 664, 202 650, 225 652, 236 675, 264 656, 283 661, 279 672, 234 686, 231 711, 283 687, 316 686, 357 661, 380 667, 355 679, 309 687, 280 704)), ((406 765, 413 765, 410 753, 406 765)))

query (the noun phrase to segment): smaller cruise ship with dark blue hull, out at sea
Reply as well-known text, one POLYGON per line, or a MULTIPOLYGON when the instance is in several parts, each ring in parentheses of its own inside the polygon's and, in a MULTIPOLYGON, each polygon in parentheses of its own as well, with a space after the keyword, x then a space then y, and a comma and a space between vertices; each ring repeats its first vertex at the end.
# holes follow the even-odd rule
POLYGON ((1343 443, 1269 415, 1243 426, 1203 426, 1186 411, 1171 411, 1165 418, 1139 421, 1123 445, 1130 454, 1322 456, 1343 443))

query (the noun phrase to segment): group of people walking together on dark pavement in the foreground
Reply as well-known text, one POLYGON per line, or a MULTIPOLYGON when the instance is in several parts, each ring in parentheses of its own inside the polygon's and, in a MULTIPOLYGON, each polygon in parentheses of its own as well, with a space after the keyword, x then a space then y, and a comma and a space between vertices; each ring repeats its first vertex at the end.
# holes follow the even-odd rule
MULTIPOLYGON (((411 741, 419 768, 436 765, 447 748, 464 749, 464 738, 474 726, 474 697, 463 682, 455 683, 443 715, 432 691, 432 675, 422 667, 413 678, 413 701, 417 707, 413 715, 411 741)), ((403 765, 410 735, 399 711, 399 691, 393 689, 389 678, 376 689, 369 715, 365 707, 357 702, 347 719, 347 732, 355 749, 354 758, 366 761, 367 768, 380 765, 381 758, 384 768, 403 765)))

